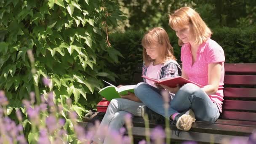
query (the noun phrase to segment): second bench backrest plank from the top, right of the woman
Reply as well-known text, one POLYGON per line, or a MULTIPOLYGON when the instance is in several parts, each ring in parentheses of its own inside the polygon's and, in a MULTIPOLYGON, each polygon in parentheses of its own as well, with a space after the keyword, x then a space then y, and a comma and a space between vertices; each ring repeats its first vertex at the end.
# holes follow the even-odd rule
POLYGON ((256 85, 256 75, 225 75, 225 85, 256 85))

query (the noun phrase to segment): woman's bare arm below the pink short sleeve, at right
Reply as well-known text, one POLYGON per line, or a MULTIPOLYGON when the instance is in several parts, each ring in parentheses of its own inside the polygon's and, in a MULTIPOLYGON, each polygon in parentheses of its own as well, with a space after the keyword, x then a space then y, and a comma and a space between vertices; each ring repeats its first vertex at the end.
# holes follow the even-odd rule
POLYGON ((208 85, 205 85, 202 89, 208 95, 215 94, 219 88, 219 82, 221 79, 221 63, 208 64, 208 85))

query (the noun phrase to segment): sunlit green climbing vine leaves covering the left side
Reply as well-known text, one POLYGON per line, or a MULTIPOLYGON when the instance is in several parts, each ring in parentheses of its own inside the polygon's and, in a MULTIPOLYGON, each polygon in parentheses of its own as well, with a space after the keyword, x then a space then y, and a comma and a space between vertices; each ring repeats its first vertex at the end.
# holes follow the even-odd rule
POLYGON ((122 55, 107 47, 107 29, 118 19, 122 12, 111 0, 0 0, 0 89, 10 100, 8 114, 29 99, 35 82, 41 94, 54 91, 63 107, 72 98, 72 109, 83 117, 85 107, 99 99, 101 77, 115 80, 107 63, 118 63, 122 55), (47 90, 43 77, 52 81, 47 90))

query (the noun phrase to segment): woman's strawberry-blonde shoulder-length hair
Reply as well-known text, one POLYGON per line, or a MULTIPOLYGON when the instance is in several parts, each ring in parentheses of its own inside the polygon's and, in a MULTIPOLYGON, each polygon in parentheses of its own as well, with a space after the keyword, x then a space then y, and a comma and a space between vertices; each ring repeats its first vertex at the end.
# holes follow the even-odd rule
MULTIPOLYGON (((192 25, 196 44, 201 44, 211 37, 211 29, 207 27, 200 15, 192 8, 182 7, 169 15, 169 25, 172 29, 183 29, 188 27, 189 24, 192 25)), ((178 43, 180 46, 184 44, 180 39, 178 43)))

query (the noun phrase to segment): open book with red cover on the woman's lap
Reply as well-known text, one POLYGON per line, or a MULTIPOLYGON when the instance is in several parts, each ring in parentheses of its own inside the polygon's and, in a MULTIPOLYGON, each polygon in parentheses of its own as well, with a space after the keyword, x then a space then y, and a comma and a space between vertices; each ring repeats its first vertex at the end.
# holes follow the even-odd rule
POLYGON ((157 84, 161 84, 161 85, 166 85, 170 88, 175 88, 177 86, 177 84, 179 84, 180 86, 185 85, 186 83, 193 83, 197 86, 199 86, 200 88, 203 88, 202 85, 199 85, 197 83, 194 83, 188 79, 185 79, 184 77, 181 76, 177 76, 177 77, 164 77, 159 79, 155 79, 155 78, 151 78, 151 77, 147 77, 145 75, 142 75, 142 77, 144 77, 145 79, 148 80, 152 80, 153 82, 157 83, 157 84))

